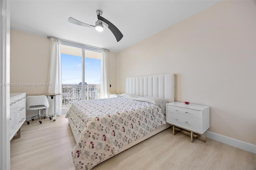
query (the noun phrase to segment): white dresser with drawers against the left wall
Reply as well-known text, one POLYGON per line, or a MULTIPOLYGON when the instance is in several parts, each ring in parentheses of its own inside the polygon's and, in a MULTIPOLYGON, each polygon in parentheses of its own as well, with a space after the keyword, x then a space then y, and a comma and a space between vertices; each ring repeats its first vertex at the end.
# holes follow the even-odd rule
POLYGON ((10 140, 17 133, 20 137, 20 127, 26 121, 26 93, 10 93, 10 140))

